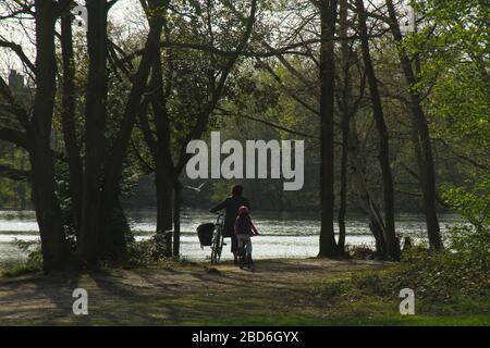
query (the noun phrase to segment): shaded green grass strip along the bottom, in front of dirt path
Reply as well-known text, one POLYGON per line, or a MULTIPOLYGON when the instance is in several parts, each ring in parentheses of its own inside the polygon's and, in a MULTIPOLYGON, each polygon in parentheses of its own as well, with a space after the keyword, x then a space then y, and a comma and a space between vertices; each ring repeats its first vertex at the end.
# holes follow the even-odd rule
MULTIPOLYGON (((336 284, 333 282, 332 284, 336 284)), ((308 297, 304 288, 256 288, 114 300, 91 310, 96 325, 490 325, 489 298, 434 304, 416 301, 415 315, 401 315, 397 299, 379 296, 308 297)), ((84 320, 84 319, 82 319, 84 320)), ((73 318, 71 323, 76 324, 73 318)))

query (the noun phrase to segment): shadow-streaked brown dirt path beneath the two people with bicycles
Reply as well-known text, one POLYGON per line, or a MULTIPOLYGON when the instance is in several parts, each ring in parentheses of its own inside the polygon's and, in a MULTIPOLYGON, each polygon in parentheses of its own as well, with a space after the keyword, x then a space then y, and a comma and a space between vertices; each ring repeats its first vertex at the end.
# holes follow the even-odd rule
POLYGON ((260 260, 254 272, 203 263, 0 278, 0 324, 198 324, 234 298, 240 301, 230 311, 261 310, 241 294, 262 297, 273 311, 287 306, 290 297, 307 297, 309 284, 383 266, 373 261, 260 260), (72 293, 79 287, 88 291, 89 315, 72 312, 72 293))

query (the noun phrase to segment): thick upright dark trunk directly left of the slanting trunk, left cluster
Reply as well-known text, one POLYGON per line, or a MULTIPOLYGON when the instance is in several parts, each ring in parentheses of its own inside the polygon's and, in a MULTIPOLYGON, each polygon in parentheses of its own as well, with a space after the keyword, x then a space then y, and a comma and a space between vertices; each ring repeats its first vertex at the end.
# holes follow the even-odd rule
POLYGON ((88 265, 96 265, 101 246, 100 222, 106 219, 102 211, 100 186, 103 158, 106 156, 107 119, 107 3, 87 0, 88 11, 88 84, 85 103, 85 173, 83 179, 83 203, 79 257, 88 265))

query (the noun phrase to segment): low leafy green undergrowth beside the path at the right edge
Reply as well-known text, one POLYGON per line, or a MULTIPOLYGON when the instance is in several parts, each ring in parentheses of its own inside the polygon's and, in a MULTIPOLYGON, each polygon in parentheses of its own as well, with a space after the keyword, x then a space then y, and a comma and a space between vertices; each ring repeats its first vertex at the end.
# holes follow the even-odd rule
POLYGON ((417 298, 438 301, 489 296, 489 231, 453 227, 445 250, 413 247, 404 251, 400 265, 384 273, 354 276, 351 285, 354 291, 382 297, 397 297, 402 288, 412 288, 417 298))

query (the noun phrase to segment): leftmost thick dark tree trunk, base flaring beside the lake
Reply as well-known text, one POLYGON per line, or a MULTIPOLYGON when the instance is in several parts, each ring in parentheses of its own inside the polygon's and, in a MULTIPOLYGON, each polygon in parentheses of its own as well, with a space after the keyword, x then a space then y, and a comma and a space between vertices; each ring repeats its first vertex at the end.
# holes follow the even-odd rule
POLYGON ((39 225, 45 271, 62 269, 68 256, 61 209, 56 196, 54 163, 50 148, 56 94, 56 2, 37 0, 36 96, 33 121, 27 129, 33 176, 33 202, 39 225))

